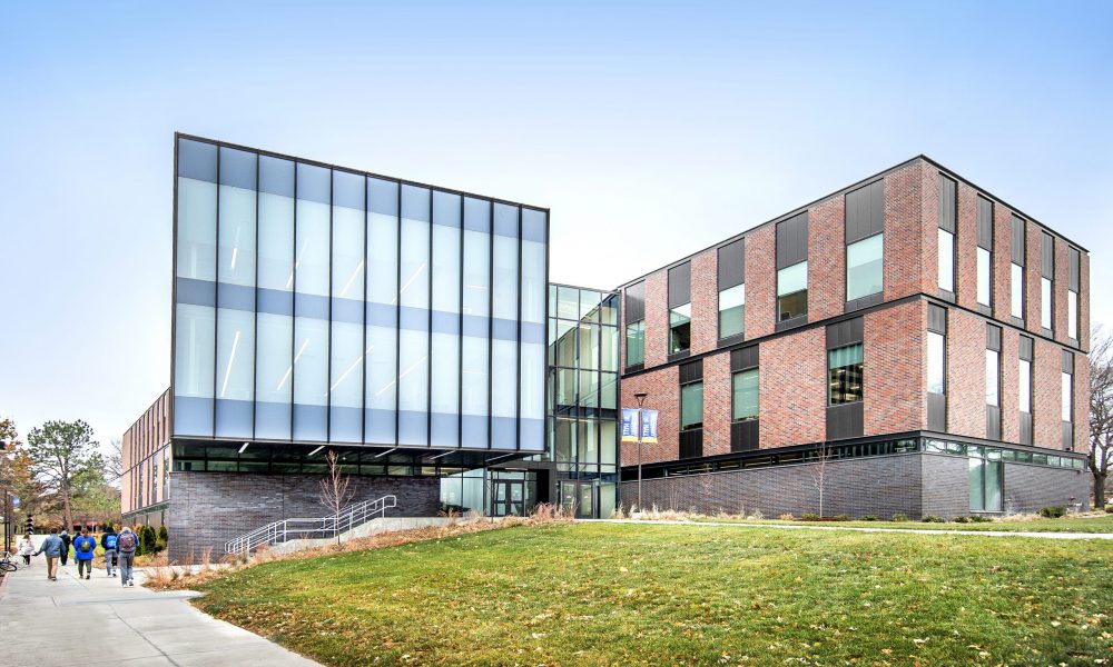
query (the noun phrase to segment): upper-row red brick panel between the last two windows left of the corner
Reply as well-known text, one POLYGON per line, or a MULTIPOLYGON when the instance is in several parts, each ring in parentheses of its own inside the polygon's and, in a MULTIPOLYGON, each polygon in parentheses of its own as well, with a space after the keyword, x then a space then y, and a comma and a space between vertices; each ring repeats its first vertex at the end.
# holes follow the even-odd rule
POLYGON ((846 197, 808 209, 808 321, 843 315, 846 307, 846 197))

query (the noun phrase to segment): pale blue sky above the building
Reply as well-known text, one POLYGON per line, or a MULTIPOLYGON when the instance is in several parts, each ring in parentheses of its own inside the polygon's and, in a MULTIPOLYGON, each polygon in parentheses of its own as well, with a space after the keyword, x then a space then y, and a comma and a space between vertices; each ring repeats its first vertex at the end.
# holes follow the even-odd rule
POLYGON ((613 287, 926 153, 1089 248, 1113 323, 1107 2, 14 3, 0 416, 169 384, 175 130, 551 207, 613 287))

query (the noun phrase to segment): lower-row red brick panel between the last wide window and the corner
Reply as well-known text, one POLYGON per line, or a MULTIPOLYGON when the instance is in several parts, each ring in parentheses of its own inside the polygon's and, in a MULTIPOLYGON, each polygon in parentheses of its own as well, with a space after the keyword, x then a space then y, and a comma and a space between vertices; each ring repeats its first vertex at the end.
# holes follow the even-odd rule
POLYGON ((865 316, 864 435, 926 427, 926 318, 924 301, 913 301, 865 316))

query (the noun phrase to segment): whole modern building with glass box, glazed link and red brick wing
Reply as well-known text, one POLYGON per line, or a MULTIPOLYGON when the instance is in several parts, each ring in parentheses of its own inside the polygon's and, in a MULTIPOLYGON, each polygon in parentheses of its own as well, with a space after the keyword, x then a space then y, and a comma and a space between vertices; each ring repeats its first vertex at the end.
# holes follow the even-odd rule
POLYGON ((322 516, 329 450, 411 517, 608 517, 639 469, 643 506, 701 511, 818 511, 816 469, 825 514, 1085 502, 1089 256, 930 160, 614 291, 550 283, 549 231, 177 136, 171 386, 125 435, 126 520, 186 556, 322 516))

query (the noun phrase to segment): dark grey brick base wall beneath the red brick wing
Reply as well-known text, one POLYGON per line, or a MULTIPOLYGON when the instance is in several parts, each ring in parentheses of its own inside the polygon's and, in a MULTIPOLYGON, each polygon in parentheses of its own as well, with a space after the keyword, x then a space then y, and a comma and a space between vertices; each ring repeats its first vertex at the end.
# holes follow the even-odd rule
MULTIPOLYGON (((760 510, 766 518, 819 512, 816 464, 779 466, 642 480, 642 507, 713 515, 760 510)), ((900 512, 919 520, 967 516, 969 462, 966 457, 904 454, 829 461, 824 482, 824 515, 888 519, 900 512)), ((1004 497, 1013 511, 1036 511, 1085 502, 1090 478, 1074 470, 1005 464, 1004 497)), ((622 504, 638 501, 638 482, 622 482, 622 504)))

